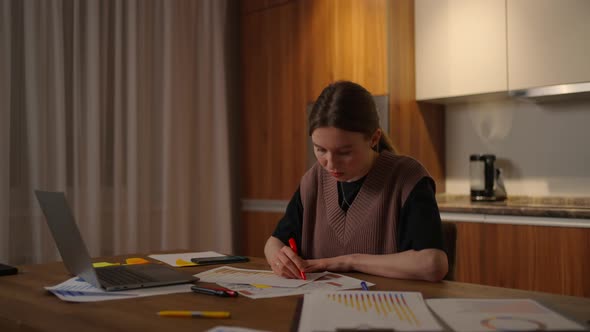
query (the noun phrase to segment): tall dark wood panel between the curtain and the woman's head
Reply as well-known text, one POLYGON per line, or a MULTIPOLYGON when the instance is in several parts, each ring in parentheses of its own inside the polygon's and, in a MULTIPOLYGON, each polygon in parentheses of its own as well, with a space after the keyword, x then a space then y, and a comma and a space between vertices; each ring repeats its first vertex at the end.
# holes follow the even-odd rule
POLYGON ((242 17, 242 198, 288 199, 305 171, 298 3, 242 17))

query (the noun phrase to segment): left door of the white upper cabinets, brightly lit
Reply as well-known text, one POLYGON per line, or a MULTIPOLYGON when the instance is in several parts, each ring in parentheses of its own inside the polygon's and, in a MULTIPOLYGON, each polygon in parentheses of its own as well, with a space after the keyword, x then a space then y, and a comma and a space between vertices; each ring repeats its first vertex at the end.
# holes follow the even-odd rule
POLYGON ((505 0, 415 1, 416 99, 506 91, 505 0))

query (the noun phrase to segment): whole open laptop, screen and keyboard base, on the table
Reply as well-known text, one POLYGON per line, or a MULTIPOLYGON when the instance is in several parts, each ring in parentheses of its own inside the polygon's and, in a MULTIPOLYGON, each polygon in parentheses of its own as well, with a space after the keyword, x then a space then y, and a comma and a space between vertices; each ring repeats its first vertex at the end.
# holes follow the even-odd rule
POLYGON ((86 244, 63 192, 35 190, 47 224, 70 273, 107 291, 189 283, 199 280, 160 264, 114 265, 94 268, 86 244))

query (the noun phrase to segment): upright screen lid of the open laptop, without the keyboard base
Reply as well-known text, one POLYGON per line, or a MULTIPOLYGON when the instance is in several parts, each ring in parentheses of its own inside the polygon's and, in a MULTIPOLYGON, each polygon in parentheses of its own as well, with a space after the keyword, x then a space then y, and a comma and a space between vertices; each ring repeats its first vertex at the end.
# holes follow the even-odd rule
POLYGON ((35 190, 35 195, 68 271, 101 288, 64 193, 35 190))

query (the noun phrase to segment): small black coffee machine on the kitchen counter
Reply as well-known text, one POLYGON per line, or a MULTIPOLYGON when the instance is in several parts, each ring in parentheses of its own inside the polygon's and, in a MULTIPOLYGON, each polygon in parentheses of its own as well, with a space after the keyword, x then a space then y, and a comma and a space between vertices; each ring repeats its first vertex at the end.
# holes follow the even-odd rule
POLYGON ((506 188, 502 171, 494 166, 493 154, 472 154, 469 156, 469 185, 471 200, 474 202, 495 202, 506 199, 506 188))

